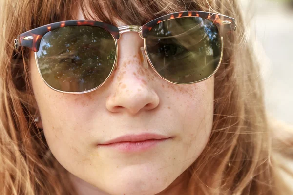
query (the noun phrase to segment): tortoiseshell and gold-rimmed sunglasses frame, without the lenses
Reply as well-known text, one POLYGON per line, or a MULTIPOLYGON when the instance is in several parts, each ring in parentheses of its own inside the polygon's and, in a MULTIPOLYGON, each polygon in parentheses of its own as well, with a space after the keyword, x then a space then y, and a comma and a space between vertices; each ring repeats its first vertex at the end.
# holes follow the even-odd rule
POLYGON ((166 21, 166 20, 171 20, 171 19, 174 19, 174 18, 182 18, 182 17, 200 17, 200 18, 203 18, 203 19, 213 21, 213 23, 217 26, 219 35, 221 36, 221 57, 220 57, 220 61, 219 61, 219 64, 218 64, 217 68, 209 76, 209 77, 211 77, 212 75, 214 75, 217 72, 217 70, 218 70, 218 68, 219 68, 219 66, 221 64, 221 61, 222 61, 222 57, 223 57, 223 36, 226 35, 228 32, 236 30, 236 22, 235 22, 234 18, 231 18, 231 17, 226 16, 226 15, 222 15, 222 14, 211 13, 211 12, 203 12, 203 11, 175 12, 175 13, 167 14, 167 15, 161 16, 161 17, 159 17, 157 19, 151 20, 151 21, 147 22, 143 26, 129 25, 129 26, 116 27, 116 26, 113 26, 111 24, 107 24, 107 23, 104 23, 104 22, 91 21, 91 20, 68 20, 68 21, 55 22, 55 23, 47 24, 47 25, 44 25, 44 26, 29 30, 29 31, 27 31, 25 33, 22 33, 21 35, 18 36, 17 39, 14 40, 14 47, 15 47, 16 50, 20 50, 21 47, 28 47, 29 49, 31 49, 32 51, 35 52, 36 63, 37 63, 37 66, 38 66, 40 76, 42 77, 36 54, 39 51, 39 46, 40 46, 41 39, 47 32, 49 32, 51 30, 54 30, 54 29, 57 29, 57 28, 63 28, 65 26, 95 26, 95 27, 100 27, 100 28, 108 31, 112 35, 113 39, 115 40, 116 56, 115 56, 115 61, 114 61, 114 64, 113 64, 113 68, 112 68, 109 76, 99 86, 97 86, 97 87, 95 87, 95 88, 93 88, 91 90, 87 90, 87 91, 83 91, 83 92, 66 92, 66 91, 60 91, 60 90, 54 89, 42 77, 42 80, 46 83, 46 85, 48 85, 51 89, 53 89, 55 91, 62 92, 62 93, 70 93, 70 94, 82 94, 82 93, 91 92, 91 91, 96 90, 99 87, 101 87, 106 82, 106 80, 111 76, 113 70, 117 67, 117 55, 118 55, 117 40, 120 39, 120 35, 122 33, 125 33, 125 32, 137 32, 137 33, 139 33, 140 37, 142 39, 144 39, 144 51, 145 51, 144 55, 146 56, 148 63, 152 66, 153 70, 161 78, 163 78, 167 82, 170 82, 170 83, 173 83, 173 84, 191 84, 191 83, 196 83, 196 82, 206 80, 209 77, 204 78, 202 80, 195 81, 195 82, 190 82, 190 83, 177 83, 177 82, 169 81, 166 78, 162 77, 156 71, 156 69, 154 68, 152 62, 150 61, 150 59, 148 57, 147 50, 146 50, 146 38, 147 38, 147 35, 148 35, 149 31, 155 25, 157 25, 157 24, 159 24, 159 23, 161 23, 163 21, 166 21))

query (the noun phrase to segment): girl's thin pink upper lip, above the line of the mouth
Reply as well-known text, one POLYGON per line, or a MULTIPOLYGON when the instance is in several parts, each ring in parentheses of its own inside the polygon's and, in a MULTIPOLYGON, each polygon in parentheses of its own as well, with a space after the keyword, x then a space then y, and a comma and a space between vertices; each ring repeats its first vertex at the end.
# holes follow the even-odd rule
POLYGON ((154 133, 144 133, 144 134, 138 134, 138 135, 127 134, 121 137, 111 139, 109 141, 105 141, 101 143, 101 145, 118 143, 118 142, 138 142, 138 141, 145 141, 148 139, 167 139, 167 138, 170 138, 170 137, 160 135, 160 134, 154 134, 154 133))

